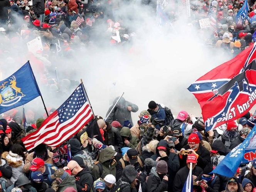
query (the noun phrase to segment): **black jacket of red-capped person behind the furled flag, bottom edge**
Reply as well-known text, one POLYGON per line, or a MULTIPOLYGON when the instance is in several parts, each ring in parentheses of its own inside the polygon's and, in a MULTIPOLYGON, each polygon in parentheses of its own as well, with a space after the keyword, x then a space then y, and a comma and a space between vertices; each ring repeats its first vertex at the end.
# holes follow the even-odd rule
MULTIPOLYGON (((202 168, 195 166, 195 168, 192 170, 192 174, 195 176, 199 176, 202 172, 202 168)), ((173 181, 173 191, 175 192, 181 192, 182 188, 187 180, 187 176, 189 175, 189 167, 183 167, 181 168, 175 176, 175 179, 173 181)))

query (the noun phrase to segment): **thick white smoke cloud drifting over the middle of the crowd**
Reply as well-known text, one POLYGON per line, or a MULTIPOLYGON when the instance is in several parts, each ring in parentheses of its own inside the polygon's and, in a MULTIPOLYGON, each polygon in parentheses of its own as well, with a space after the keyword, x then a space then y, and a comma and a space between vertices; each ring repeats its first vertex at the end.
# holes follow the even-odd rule
MULTIPOLYGON (((139 107, 137 113, 132 113, 133 122, 151 100, 165 104, 175 116, 180 110, 200 116, 200 106, 187 88, 230 58, 220 50, 207 47, 207 31, 199 30, 197 23, 188 25, 186 18, 179 18, 172 26, 159 27, 155 10, 139 2, 121 8, 120 13, 121 27, 136 33, 132 37, 133 51, 126 45, 109 47, 98 40, 76 50, 72 57, 50 60, 52 70, 57 67, 59 79, 75 80, 76 86, 83 79, 94 114, 103 118, 113 99, 123 92, 127 101, 139 107)), ((107 30, 107 24, 102 25, 107 30)), ((22 46, 20 50, 27 49, 26 44, 22 46)), ((3 61, 9 57, 13 56, 7 55, 3 61)), ((5 66, 7 72, 2 79, 27 62, 28 59, 22 58, 16 59, 14 65, 5 66)), ((31 65, 33 69, 32 62, 31 65)), ((38 74, 35 76, 46 107, 58 108, 74 91, 56 95, 49 87, 41 86, 38 74)), ((26 104, 26 108, 37 110, 40 115, 45 113, 40 97, 26 104)))

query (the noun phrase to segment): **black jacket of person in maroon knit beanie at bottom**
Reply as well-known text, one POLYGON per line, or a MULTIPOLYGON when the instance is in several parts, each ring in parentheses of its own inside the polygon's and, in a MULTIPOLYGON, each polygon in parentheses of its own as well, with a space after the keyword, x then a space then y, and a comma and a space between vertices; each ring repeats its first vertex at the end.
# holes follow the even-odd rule
POLYGON ((167 180, 160 180, 155 167, 152 168, 151 172, 149 173, 149 177, 147 180, 147 191, 148 192, 164 192, 167 190, 168 181, 167 180))

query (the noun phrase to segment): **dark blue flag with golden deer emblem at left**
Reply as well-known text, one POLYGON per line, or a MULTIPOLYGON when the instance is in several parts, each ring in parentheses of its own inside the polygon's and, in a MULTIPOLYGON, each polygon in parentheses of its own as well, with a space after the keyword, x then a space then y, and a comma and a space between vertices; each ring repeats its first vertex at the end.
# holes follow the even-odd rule
POLYGON ((29 61, 0 81, 0 114, 41 96, 29 61))

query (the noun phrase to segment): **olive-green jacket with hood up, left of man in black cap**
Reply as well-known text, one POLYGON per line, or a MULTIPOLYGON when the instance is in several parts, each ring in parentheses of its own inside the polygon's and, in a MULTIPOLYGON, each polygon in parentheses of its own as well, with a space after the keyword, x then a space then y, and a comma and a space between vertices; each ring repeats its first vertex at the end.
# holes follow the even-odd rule
POLYGON ((114 160, 111 163, 110 167, 109 167, 109 163, 106 162, 112 159, 115 153, 116 153, 115 150, 113 150, 111 147, 104 148, 101 151, 101 153, 99 153, 99 162, 102 165, 102 175, 100 175, 99 173, 98 165, 95 165, 92 170, 92 175, 96 180, 99 178, 104 179, 108 174, 112 174, 116 177, 116 164, 117 164, 116 161, 114 160))

